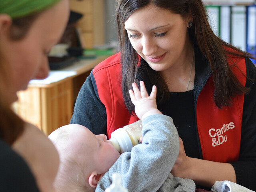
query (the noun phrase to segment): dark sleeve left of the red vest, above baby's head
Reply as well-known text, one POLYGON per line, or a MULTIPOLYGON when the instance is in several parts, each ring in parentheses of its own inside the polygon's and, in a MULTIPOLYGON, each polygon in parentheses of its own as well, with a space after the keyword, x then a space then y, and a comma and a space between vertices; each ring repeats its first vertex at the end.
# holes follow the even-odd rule
POLYGON ((107 132, 106 108, 99 99, 92 72, 78 93, 70 124, 86 126, 94 134, 107 132))

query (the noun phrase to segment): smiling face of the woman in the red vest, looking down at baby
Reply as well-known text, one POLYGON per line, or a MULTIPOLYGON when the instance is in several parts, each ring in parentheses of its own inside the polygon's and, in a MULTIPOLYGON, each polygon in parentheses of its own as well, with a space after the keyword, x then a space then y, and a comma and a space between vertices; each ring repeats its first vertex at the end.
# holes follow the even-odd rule
POLYGON ((150 5, 136 10, 124 25, 136 52, 152 69, 164 71, 186 58, 189 19, 150 5))

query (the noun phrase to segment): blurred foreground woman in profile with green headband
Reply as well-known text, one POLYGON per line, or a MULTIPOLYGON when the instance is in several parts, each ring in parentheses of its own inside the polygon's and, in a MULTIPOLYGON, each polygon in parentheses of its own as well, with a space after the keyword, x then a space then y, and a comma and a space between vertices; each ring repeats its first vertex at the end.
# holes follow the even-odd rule
POLYGON ((32 78, 48 76, 47 53, 62 36, 69 12, 68 0, 0 3, 0 191, 54 191, 56 149, 35 126, 16 116, 10 105, 32 78), (42 159, 39 156, 48 157, 51 166, 37 161, 42 159))

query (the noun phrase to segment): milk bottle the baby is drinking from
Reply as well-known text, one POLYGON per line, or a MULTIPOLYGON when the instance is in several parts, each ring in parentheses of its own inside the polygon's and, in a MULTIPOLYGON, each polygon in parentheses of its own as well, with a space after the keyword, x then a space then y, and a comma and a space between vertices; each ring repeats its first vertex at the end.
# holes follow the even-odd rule
POLYGON ((120 153, 131 151, 133 146, 140 143, 141 130, 142 123, 138 120, 112 132, 110 141, 120 153))

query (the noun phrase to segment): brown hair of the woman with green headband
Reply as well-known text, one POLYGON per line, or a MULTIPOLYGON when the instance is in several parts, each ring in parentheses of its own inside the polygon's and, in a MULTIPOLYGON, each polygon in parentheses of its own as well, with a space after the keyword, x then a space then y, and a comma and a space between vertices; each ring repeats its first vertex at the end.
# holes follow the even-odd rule
MULTIPOLYGON (((23 39, 37 16, 38 14, 34 14, 12 20, 9 38, 12 40, 23 39)), ((11 72, 8 65, 2 60, 1 52, 0 69, 0 139, 4 140, 8 144, 13 144, 24 130, 24 121, 10 108, 11 102, 8 98, 6 85, 8 78, 12 74, 10 74, 11 72)))

